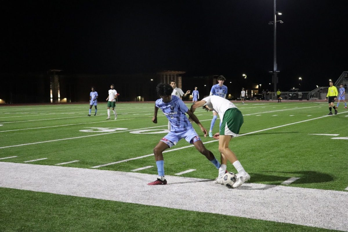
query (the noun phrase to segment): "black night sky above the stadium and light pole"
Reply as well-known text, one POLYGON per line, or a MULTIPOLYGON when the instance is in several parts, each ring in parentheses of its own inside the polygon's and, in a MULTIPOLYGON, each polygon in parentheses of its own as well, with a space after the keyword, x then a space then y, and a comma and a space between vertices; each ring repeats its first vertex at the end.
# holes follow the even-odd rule
MULTIPOLYGON (((270 82, 273 0, 73 2, 2 4, 2 72, 180 70, 270 82)), ((280 87, 303 77, 311 90, 348 71, 347 0, 278 0, 277 11, 280 87)))

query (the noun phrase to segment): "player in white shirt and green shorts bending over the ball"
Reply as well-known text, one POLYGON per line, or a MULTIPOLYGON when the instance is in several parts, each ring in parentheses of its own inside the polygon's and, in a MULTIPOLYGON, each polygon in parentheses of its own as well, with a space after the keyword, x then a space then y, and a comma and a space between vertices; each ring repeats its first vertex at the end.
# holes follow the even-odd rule
POLYGON ((238 161, 234 152, 228 147, 231 138, 239 135, 240 127, 243 124, 243 115, 237 107, 225 98, 219 96, 208 96, 201 101, 193 104, 190 111, 195 112, 197 107, 203 107, 207 111, 215 111, 219 114, 222 121, 220 132, 213 137, 219 139, 219 151, 221 152, 221 166, 219 168, 219 176, 215 179, 215 183, 222 184, 222 177, 226 172, 227 160, 229 160, 236 168, 238 173, 237 181, 232 187, 239 187, 250 179, 250 175, 244 170, 238 161))

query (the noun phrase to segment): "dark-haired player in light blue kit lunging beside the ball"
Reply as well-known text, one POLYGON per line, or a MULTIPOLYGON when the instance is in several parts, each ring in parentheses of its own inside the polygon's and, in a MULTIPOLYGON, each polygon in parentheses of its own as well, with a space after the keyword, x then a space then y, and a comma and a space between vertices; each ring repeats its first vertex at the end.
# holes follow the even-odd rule
POLYGON ((217 161, 213 153, 205 148, 195 129, 193 129, 190 121, 186 117, 187 113, 190 118, 197 123, 204 137, 207 136, 207 130, 201 125, 196 115, 193 114, 184 102, 176 96, 172 95, 173 88, 168 84, 159 83, 156 87, 157 94, 161 97, 155 103, 155 113, 152 122, 157 123, 157 112, 160 108, 171 122, 171 131, 164 136, 153 149, 158 171, 158 178, 156 181, 148 183, 148 185, 163 185, 167 184, 164 177, 164 159, 163 151, 175 145, 180 139, 193 144, 196 149, 212 162, 216 168, 220 168, 220 163, 217 161))

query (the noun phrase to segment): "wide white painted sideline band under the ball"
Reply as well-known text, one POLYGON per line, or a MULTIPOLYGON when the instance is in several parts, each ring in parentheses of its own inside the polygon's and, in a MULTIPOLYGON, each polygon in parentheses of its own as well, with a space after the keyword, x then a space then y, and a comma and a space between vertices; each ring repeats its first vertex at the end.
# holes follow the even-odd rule
POLYGON ((0 162, 0 187, 348 231, 348 205, 342 203, 348 202, 347 191, 256 183, 228 189, 211 179, 175 175, 166 176, 165 186, 147 185, 154 177, 134 172, 0 162), (154 198, 159 191, 161 197, 154 198))

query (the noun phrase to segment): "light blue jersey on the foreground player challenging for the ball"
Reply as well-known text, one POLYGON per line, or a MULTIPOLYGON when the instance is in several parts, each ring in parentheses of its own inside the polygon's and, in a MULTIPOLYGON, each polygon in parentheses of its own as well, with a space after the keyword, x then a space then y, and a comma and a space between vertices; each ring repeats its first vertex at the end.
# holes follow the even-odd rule
POLYGON ((172 101, 168 103, 163 102, 163 99, 160 98, 155 105, 167 116, 171 123, 171 131, 183 132, 192 128, 190 121, 185 115, 189 109, 179 97, 172 95, 172 101))

